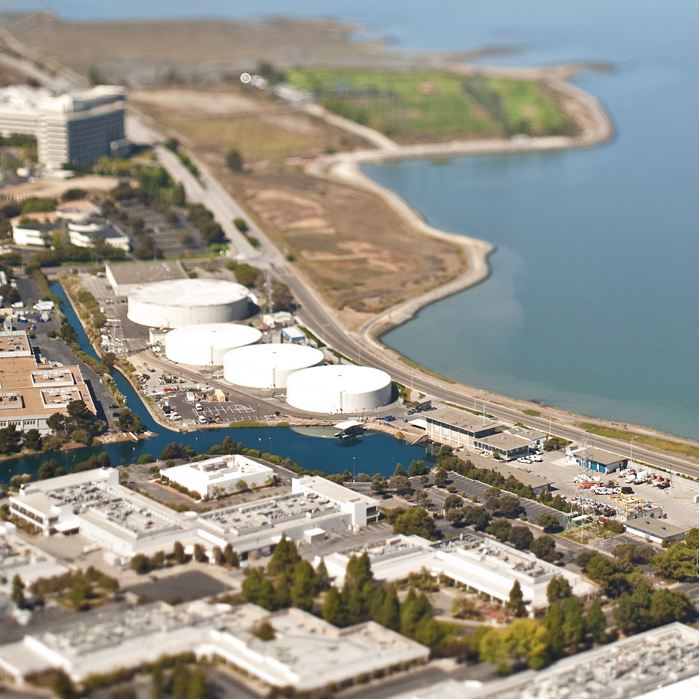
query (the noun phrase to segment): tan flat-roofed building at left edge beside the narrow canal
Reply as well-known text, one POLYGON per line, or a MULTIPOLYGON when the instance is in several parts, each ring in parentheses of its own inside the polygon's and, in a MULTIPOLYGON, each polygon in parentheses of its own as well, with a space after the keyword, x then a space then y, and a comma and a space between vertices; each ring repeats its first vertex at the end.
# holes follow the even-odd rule
POLYGON ((80 367, 39 364, 24 331, 0 331, 0 428, 37 429, 49 434, 47 420, 66 414, 71 401, 83 401, 96 412, 80 367))

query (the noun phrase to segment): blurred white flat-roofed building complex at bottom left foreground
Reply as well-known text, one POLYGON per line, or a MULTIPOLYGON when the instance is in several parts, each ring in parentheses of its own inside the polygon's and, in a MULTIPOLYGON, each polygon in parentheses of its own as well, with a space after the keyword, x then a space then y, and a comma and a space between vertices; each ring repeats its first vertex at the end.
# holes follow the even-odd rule
POLYGON ((234 665, 267 686, 298 691, 352 683, 359 675, 407 668, 429 656, 428 648, 373 621, 337 628, 294 608, 271 613, 250 604, 198 601, 140 605, 27 634, 0 646, 0 669, 23 682, 33 672, 61 668, 81 682, 87 675, 188 652, 234 665), (265 641, 254 633, 264 621, 274 630, 265 641))

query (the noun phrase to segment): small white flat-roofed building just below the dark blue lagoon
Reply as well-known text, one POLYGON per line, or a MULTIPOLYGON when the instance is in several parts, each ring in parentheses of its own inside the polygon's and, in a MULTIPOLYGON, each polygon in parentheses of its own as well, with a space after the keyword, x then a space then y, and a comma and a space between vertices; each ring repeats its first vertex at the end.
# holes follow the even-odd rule
POLYGON ((161 468, 160 479, 199 493, 202 498, 232 494, 244 482, 250 489, 264 486, 274 471, 242 454, 215 456, 213 459, 161 468))

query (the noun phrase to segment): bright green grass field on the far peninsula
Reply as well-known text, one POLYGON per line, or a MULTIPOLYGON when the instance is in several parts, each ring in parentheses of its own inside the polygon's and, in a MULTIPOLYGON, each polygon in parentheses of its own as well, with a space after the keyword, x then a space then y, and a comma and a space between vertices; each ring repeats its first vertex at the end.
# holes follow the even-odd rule
POLYGON ((531 80, 346 69, 294 69, 286 80, 315 94, 326 109, 401 141, 575 132, 531 80))

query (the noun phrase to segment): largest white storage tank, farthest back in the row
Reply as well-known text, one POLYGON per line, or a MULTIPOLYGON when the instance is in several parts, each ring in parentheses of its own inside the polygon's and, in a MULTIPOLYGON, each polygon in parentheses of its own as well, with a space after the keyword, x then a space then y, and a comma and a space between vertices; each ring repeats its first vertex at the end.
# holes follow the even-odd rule
POLYGON ((219 279, 172 279, 129 293, 129 320, 152 328, 230 323, 248 314, 248 289, 219 279))

